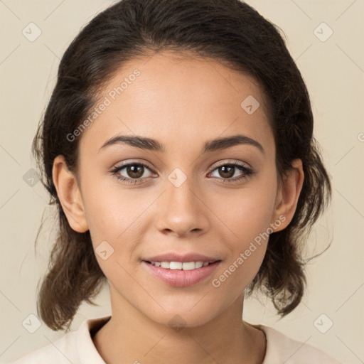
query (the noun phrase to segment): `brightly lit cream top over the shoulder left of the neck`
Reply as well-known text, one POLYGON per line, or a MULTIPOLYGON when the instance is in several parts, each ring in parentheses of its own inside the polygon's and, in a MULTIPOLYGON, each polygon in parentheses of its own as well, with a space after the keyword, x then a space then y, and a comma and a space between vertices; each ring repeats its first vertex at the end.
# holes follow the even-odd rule
POLYGON ((87 319, 77 331, 65 333, 53 343, 8 364, 105 364, 95 348, 90 330, 105 323, 108 317, 87 319))

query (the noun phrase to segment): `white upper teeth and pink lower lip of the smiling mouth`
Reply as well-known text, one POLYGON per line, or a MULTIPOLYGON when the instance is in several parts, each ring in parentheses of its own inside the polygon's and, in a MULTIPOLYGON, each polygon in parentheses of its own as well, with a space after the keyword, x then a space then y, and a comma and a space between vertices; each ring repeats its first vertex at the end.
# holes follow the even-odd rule
POLYGON ((181 262, 168 260, 143 260, 149 274, 160 282, 173 287, 188 287, 208 279, 222 262, 220 259, 204 262, 203 260, 181 262))

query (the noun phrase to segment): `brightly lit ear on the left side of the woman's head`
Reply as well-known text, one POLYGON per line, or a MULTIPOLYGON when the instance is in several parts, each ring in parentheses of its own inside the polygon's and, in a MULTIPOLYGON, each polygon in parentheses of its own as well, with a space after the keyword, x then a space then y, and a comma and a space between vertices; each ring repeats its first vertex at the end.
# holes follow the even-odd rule
POLYGON ((64 156, 55 157, 52 175, 60 204, 70 227, 77 232, 86 232, 89 228, 80 188, 74 173, 68 169, 64 156))

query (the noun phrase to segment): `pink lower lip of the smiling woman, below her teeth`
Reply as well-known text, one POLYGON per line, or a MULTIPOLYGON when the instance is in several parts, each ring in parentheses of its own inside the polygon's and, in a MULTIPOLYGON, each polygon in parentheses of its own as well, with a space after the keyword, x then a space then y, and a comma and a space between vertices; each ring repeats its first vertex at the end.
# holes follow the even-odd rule
POLYGON ((156 267, 146 261, 143 261, 143 264, 146 265, 146 268, 149 269, 151 274, 154 274, 154 276, 159 278, 162 282, 173 287, 188 287, 201 282, 203 279, 213 274, 220 262, 221 261, 214 262, 205 267, 191 270, 166 269, 156 267))

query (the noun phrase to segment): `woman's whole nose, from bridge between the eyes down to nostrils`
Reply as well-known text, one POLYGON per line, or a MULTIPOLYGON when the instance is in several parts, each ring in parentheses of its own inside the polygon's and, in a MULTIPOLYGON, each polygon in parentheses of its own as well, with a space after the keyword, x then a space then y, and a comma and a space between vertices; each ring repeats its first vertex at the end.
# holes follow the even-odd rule
POLYGON ((194 179, 176 168, 168 175, 165 187, 158 213, 159 230, 173 230, 178 235, 206 230, 208 216, 205 205, 198 198, 199 188, 194 179))

